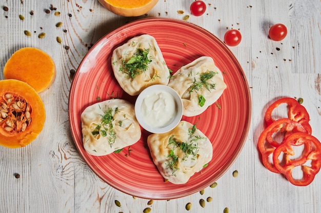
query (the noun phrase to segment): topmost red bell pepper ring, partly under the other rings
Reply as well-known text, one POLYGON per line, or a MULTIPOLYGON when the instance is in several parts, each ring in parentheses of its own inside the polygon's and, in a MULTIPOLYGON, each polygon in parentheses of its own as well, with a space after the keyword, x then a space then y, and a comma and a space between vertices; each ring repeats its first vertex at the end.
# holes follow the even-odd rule
POLYGON ((306 108, 300 105, 297 100, 293 98, 281 98, 272 103, 267 111, 265 112, 265 122, 269 126, 275 120, 272 119, 272 112, 273 110, 278 107, 280 104, 287 104, 288 105, 288 117, 292 121, 300 123, 306 130, 308 134, 312 133, 312 128, 309 124, 310 115, 307 112, 306 108))

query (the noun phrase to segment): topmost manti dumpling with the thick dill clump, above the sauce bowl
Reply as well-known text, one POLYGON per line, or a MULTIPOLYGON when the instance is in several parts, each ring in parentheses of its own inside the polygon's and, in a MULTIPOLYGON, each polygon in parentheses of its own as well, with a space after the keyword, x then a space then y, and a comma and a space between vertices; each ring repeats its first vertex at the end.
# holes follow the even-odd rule
POLYGON ((148 86, 169 82, 169 69, 151 35, 136 36, 116 48, 111 63, 119 85, 131 96, 148 86))

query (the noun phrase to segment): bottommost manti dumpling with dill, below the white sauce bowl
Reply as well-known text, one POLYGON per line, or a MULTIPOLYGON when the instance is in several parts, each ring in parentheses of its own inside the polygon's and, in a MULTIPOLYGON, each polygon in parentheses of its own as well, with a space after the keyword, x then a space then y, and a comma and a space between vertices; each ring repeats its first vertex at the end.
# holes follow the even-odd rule
POLYGON ((147 144, 159 173, 174 184, 186 183, 213 155, 211 141, 186 121, 167 133, 149 135, 147 144))

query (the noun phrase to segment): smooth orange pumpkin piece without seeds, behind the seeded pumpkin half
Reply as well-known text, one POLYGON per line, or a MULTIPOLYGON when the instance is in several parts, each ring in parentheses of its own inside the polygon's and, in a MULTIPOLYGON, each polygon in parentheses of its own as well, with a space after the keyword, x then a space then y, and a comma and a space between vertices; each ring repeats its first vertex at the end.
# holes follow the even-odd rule
POLYGON ((51 57, 36 48, 22 48, 7 61, 5 79, 16 79, 28 83, 37 92, 48 89, 56 77, 56 68, 51 57))

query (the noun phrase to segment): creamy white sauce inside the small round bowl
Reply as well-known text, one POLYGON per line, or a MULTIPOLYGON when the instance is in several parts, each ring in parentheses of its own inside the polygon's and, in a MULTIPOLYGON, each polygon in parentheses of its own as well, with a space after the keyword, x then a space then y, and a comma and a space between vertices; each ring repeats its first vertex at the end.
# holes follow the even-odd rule
POLYGON ((144 98, 141 111, 147 124, 162 128, 172 122, 177 113, 177 107, 170 93, 157 90, 144 98))

